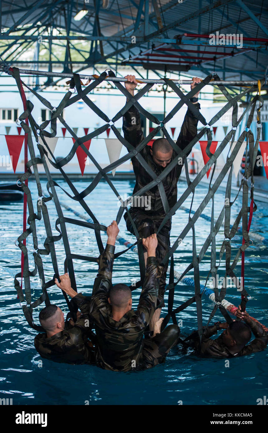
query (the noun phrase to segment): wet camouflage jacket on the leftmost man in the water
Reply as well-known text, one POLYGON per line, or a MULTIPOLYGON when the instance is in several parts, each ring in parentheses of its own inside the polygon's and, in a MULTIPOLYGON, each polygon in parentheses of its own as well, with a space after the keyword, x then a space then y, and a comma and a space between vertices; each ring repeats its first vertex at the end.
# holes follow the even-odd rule
POLYGON ((63 331, 48 338, 45 333, 38 334, 34 345, 41 357, 50 361, 90 364, 94 362, 94 352, 88 345, 87 339, 91 330, 90 300, 79 293, 72 298, 71 302, 77 304, 82 313, 74 326, 68 324, 63 331))

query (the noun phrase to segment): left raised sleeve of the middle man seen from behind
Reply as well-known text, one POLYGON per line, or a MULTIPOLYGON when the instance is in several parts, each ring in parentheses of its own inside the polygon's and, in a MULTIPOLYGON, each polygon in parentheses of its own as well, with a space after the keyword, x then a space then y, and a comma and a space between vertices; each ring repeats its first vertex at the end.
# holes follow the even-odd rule
POLYGON ((105 250, 98 259, 99 272, 94 281, 90 302, 90 312, 108 304, 109 291, 112 287, 114 250, 115 247, 113 245, 107 244, 105 250))

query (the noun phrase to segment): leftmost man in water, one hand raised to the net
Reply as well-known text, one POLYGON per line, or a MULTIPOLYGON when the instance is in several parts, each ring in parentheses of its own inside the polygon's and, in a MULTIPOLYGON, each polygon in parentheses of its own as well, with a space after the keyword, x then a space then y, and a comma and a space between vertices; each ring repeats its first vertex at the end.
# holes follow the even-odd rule
POLYGON ((35 337, 34 344, 42 358, 67 364, 91 364, 94 362, 92 343, 88 340, 91 333, 89 316, 90 300, 71 288, 69 275, 60 275, 61 282, 55 284, 71 296, 71 302, 81 310, 77 312, 74 323, 64 320, 64 313, 57 305, 48 305, 39 313, 39 321, 45 333, 35 337))

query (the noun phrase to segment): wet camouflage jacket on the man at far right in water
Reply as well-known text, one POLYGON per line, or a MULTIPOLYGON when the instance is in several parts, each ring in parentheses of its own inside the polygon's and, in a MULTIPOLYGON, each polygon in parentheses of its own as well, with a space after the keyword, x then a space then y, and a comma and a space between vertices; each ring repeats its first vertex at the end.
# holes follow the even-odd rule
POLYGON ((247 324, 256 338, 235 355, 232 355, 232 353, 229 352, 228 347, 223 343, 222 335, 215 340, 210 338, 213 334, 217 333, 217 327, 215 325, 209 326, 207 330, 204 331, 201 346, 199 342, 196 342, 195 347, 203 355, 209 355, 214 358, 232 358, 262 351, 267 346, 268 334, 263 330, 261 325, 253 320, 250 320, 247 324))

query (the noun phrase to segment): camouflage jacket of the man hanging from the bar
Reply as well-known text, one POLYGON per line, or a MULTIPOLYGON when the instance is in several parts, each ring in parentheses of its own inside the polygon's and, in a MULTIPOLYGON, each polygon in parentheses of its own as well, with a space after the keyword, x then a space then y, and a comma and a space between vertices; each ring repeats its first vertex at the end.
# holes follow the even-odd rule
MULTIPOLYGON (((200 104, 199 103, 195 104, 195 107, 200 109, 200 104)), ((185 147, 197 135, 197 123, 198 123, 197 117, 191 112, 191 110, 188 109, 187 113, 185 114, 183 124, 181 126, 180 135, 178 136, 176 142, 176 144, 181 150, 185 149, 185 147)), ((125 139, 135 148, 144 139, 139 110, 137 110, 136 107, 134 106, 132 106, 123 116, 123 132, 124 132, 125 139), (132 118, 135 118, 136 120, 135 125, 132 125, 131 123, 132 118)), ((142 157, 145 159, 147 164, 152 168, 152 170, 158 176, 159 174, 161 174, 164 168, 161 167, 160 165, 155 164, 155 162, 152 159, 150 149, 151 147, 146 145, 140 152, 140 155, 142 155, 142 157)), ((191 151, 189 151, 187 155, 189 155, 190 152, 191 151)), ((177 153, 173 151, 171 161, 176 157, 176 155, 177 153)), ((133 165, 134 174, 136 176, 136 184, 132 193, 132 195, 134 196, 137 191, 139 191, 141 188, 149 184, 152 181, 152 178, 148 173, 148 171, 144 167, 142 167, 140 162, 137 160, 136 156, 134 156, 131 161, 133 165)), ((177 183, 183 166, 180 159, 178 162, 180 164, 175 165, 175 167, 172 168, 172 170, 162 180, 170 208, 173 207, 174 204, 176 204, 177 202, 177 183)), ((144 197, 148 197, 148 199, 146 198, 145 204, 148 203, 147 200, 149 200, 149 197, 151 201, 150 203, 151 209, 146 210, 146 214, 148 216, 165 215, 165 211, 163 208, 162 200, 157 185, 152 189, 150 189, 149 191, 146 191, 143 195, 144 197)), ((145 211, 146 207, 143 206, 142 201, 140 202, 140 204, 141 206, 136 206, 136 205, 135 206, 140 207, 142 211, 145 211)))

